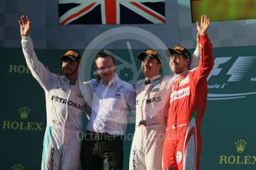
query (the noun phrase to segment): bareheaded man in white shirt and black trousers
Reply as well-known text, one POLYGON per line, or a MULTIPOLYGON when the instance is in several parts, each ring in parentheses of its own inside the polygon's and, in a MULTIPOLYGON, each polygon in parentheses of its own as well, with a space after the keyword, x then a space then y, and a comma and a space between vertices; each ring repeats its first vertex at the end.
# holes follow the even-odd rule
MULTIPOLYGON (((122 135, 128 109, 135 110, 135 91, 116 75, 114 58, 106 52, 95 57, 96 79, 85 82, 93 91, 91 118, 82 144, 82 169, 122 169, 122 135)), ((83 91, 83 88, 82 88, 83 91)))

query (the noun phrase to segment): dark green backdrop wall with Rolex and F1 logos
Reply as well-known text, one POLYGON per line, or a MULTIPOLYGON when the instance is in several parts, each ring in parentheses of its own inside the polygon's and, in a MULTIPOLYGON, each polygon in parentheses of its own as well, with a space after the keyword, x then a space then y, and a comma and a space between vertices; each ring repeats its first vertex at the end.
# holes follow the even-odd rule
MULTIPOLYGON (((135 50, 134 56, 140 51, 142 50, 135 50)), ((65 50, 36 50, 39 60, 50 71, 60 74, 59 56, 64 52, 65 50)), ((123 55, 125 50, 111 52, 124 56, 123 59, 128 61, 126 55, 123 55)), ((0 55, 0 169, 40 169, 46 125, 44 91, 27 69, 21 49, 0 48, 0 55)), ((214 69, 209 76, 209 99, 202 123, 200 169, 255 170, 255 47, 214 48, 214 58, 214 69)), ((120 63, 122 61, 117 61, 117 65, 120 63)), ((91 65, 93 76, 93 63, 88 64, 91 65)), ((137 68, 140 69, 138 62, 137 68)), ((163 69, 167 70, 168 64, 163 69)), ((125 81, 133 78, 133 72, 129 68, 122 67, 117 71, 125 81)), ((131 123, 127 132, 133 133, 134 118, 130 116, 131 123)), ((128 169, 130 148, 131 140, 125 140, 124 169, 128 169)))

